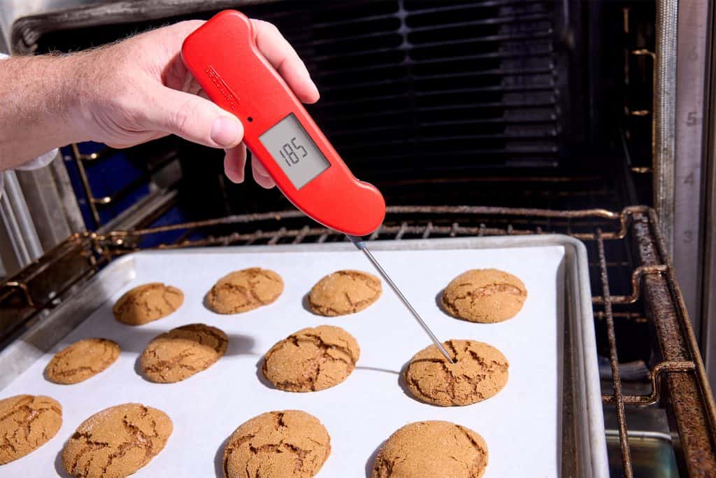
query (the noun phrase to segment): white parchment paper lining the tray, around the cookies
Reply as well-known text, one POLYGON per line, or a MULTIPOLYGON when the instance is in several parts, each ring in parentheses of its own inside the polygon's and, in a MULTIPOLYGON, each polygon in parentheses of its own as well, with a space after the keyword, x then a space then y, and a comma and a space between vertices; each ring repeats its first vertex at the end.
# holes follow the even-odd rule
MULTIPOLYGON (((135 279, 52 351, 80 338, 105 337, 120 344, 119 360, 95 378, 60 386, 42 376, 52 356, 49 353, 7 386, 2 398, 18 393, 56 398, 64 408, 64 423, 48 444, 1 467, 0 474, 62 475, 59 452, 81 421, 107 406, 140 402, 169 414, 174 433, 164 451, 137 477, 211 477, 215 473, 221 477, 223 442, 231 432, 264 411, 290 408, 314 414, 331 435, 332 454, 319 477, 366 476, 382 441, 400 426, 419 420, 453 421, 481 434, 489 449, 485 477, 523 477, 526 472, 531 477, 559 476, 559 333, 564 318, 565 247, 388 251, 379 250, 376 244, 372 248, 439 338, 484 341, 500 349, 510 361, 510 378, 497 396, 450 408, 415 401, 401 388, 400 370, 430 341, 386 285, 377 303, 354 315, 320 317, 305 309, 306 292, 325 274, 337 269, 372 272, 362 254, 350 246, 339 252, 310 249, 141 252, 119 259, 135 262, 135 279), (279 272, 286 286, 279 300, 238 315, 218 315, 206 309, 203 297, 216 279, 245 267, 279 272), (523 310, 512 320, 489 325, 445 315, 436 303, 441 288, 466 269, 485 267, 512 272, 525 282, 528 299, 523 310), (112 303, 126 290, 145 282, 179 287, 185 293, 184 305, 173 315, 141 327, 116 322, 112 303), (150 383, 137 374, 137 356, 155 335, 192 322, 216 326, 229 335, 224 358, 180 383, 150 383), (339 386, 314 393, 288 393, 267 386, 257 368, 263 353, 286 335, 321 324, 339 325, 357 338, 361 356, 356 371, 339 386)), ((112 264, 102 273, 111 273, 116 266, 112 264)))

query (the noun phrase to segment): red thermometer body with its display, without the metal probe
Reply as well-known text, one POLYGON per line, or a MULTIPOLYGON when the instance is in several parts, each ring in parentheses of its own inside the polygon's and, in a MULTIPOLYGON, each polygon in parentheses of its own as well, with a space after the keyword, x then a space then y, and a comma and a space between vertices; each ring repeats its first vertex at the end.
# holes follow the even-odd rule
POLYGON ((241 120, 246 146, 294 206, 344 234, 372 233, 385 217, 380 191, 353 176, 254 39, 245 15, 222 11, 189 35, 182 57, 211 100, 241 120))

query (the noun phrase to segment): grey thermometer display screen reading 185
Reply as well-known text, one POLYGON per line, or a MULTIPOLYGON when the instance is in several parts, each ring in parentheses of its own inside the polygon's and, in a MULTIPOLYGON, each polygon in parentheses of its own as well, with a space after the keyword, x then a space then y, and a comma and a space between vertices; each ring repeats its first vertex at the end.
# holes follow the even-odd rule
POLYGON ((326 171, 331 163, 306 133, 294 113, 258 137, 296 189, 326 171))

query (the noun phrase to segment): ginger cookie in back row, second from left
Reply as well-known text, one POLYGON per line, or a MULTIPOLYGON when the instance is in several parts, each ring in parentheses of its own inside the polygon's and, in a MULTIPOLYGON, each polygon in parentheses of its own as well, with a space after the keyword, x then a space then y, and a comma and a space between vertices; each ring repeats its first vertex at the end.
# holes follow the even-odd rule
POLYGON ((281 292, 284 292, 284 279, 279 274, 251 267, 218 279, 206 295, 206 304, 219 314, 238 314, 271 304, 281 292))

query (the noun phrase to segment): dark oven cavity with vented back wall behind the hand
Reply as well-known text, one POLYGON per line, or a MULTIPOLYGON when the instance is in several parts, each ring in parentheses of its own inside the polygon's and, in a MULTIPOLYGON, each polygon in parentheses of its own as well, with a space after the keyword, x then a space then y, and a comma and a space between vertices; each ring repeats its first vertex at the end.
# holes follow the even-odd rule
MULTIPOLYGON (((116 24, 92 25, 85 14, 84 27, 21 19, 13 39, 19 50, 72 52, 217 10, 193 7, 116 24)), ((269 1, 241 8, 276 24, 294 45, 321 91, 309 112, 387 204, 619 210, 651 203, 652 63, 630 54, 653 51, 651 2, 269 1)), ((173 221, 291 207, 251 181, 226 181, 221 151, 177 138, 121 151, 82 144, 64 157, 89 230, 154 188, 177 192, 162 214, 173 221)))

